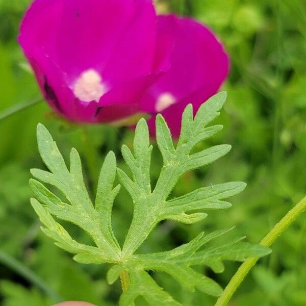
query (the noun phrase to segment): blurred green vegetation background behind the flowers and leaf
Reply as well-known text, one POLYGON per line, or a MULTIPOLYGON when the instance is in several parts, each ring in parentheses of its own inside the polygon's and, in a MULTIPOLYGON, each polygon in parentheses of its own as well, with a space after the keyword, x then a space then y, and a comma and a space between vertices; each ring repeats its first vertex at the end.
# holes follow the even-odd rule
MULTIPOLYGON (((18 24, 29 0, 0 0, 0 116, 9 107, 40 96, 16 42, 18 24)), ((160 0, 160 13, 193 16, 208 24, 230 53, 231 75, 224 89, 228 101, 221 117, 224 130, 200 146, 229 143, 233 150, 209 167, 188 173, 175 194, 196 187, 244 181, 248 187, 232 199, 233 208, 211 212, 195 225, 162 223, 141 251, 169 249, 210 231, 236 225, 233 235, 258 243, 306 193, 306 2, 304 0, 160 0)), ((109 126, 73 126, 56 118, 45 103, 0 121, 0 303, 4 306, 49 306, 53 292, 63 299, 98 306, 116 305, 120 284, 108 286, 107 266, 80 265, 39 230, 28 186, 29 169, 43 167, 35 129, 47 126, 67 156, 71 146, 83 158, 89 188, 103 158, 122 143, 131 145, 133 132, 109 126), (95 160, 91 157, 94 156, 95 160), (89 161, 89 162, 88 162, 89 161), (28 268, 45 290, 33 286, 8 261, 28 268)), ((153 155, 152 176, 161 166, 153 155)), ((114 231, 122 241, 132 217, 132 203, 121 192, 113 213, 114 231)), ((67 224, 74 237, 86 240, 67 224)), ((306 305, 306 220, 298 220, 276 241, 270 257, 247 276, 231 305, 306 305)), ((205 272, 226 286, 239 264, 228 263, 222 274, 205 272)), ((183 290, 166 274, 157 282, 184 305, 213 305, 215 298, 183 290)), ((144 301, 139 299, 139 305, 144 301)))

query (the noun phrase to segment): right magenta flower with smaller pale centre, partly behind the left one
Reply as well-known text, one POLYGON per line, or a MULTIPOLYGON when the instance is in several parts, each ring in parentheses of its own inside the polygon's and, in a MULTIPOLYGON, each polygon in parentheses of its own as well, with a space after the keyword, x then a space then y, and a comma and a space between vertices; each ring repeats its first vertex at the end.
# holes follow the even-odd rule
MULTIPOLYGON (((204 25, 176 16, 159 16, 159 27, 170 33, 174 42, 171 68, 148 90, 142 100, 142 110, 161 112, 168 122, 173 136, 180 133, 181 116, 187 104, 194 110, 214 95, 225 80, 229 60, 223 46, 204 25), (172 97, 158 107, 159 98, 172 97), (171 102, 171 103, 170 103, 171 102)), ((150 119, 154 134, 154 118, 150 119)))

